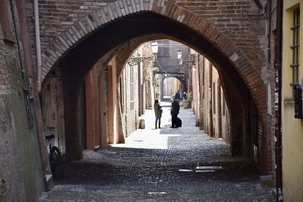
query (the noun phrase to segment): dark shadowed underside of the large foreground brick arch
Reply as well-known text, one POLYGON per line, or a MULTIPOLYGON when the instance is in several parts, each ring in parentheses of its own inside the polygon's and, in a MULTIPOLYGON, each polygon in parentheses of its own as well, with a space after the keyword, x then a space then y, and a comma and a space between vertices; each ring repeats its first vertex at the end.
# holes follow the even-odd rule
MULTIPOLYGON (((218 38, 221 37, 221 34, 217 33, 217 35, 218 38)), ((119 77, 123 65, 138 46, 146 41, 159 39, 170 39, 195 49, 205 55, 217 68, 221 68, 221 71, 233 80, 232 83, 236 84, 236 87, 247 87, 248 83, 245 84, 244 82, 245 77, 240 76, 241 70, 231 64, 231 50, 228 47, 232 46, 231 41, 221 39, 221 48, 224 49, 223 51, 228 51, 224 53, 216 47, 216 43, 203 38, 193 29, 151 12, 117 20, 100 28, 81 41, 79 45, 73 47, 59 62, 58 66, 68 70, 69 77, 72 78, 71 81, 78 85, 95 64, 102 67, 100 63, 107 64, 115 54, 118 54, 117 76, 119 77)), ((239 49, 234 51, 235 57, 237 59, 241 58, 238 60, 243 64, 241 68, 249 68, 250 72, 256 74, 249 61, 243 58, 244 54, 239 49)), ((261 85, 261 83, 258 85, 261 85)), ((262 108, 266 110, 266 105, 262 108)))

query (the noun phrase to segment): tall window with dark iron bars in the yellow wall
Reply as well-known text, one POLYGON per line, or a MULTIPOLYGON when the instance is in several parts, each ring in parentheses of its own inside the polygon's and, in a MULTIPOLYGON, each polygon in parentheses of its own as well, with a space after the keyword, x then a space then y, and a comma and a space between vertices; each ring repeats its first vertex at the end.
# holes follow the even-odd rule
MULTIPOLYGON (((294 10, 293 26, 290 28, 292 30, 292 83, 290 85, 299 85, 299 51, 300 51, 300 8, 294 10)), ((292 98, 294 99, 294 91, 292 92, 292 98)))

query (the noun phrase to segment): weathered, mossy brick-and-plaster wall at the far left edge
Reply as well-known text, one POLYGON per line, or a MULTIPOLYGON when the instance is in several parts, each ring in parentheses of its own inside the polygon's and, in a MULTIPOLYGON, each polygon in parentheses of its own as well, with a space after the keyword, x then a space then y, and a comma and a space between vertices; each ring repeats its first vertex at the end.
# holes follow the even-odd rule
MULTIPOLYGON (((5 32, 0 26, 0 201, 38 201, 38 195, 45 191, 45 179, 33 101, 28 99, 25 104, 30 83, 25 55, 18 47, 20 29, 12 18, 9 1, 0 6, 7 6, 9 22, 5 32)), ((12 7, 15 10, 14 2, 12 7)), ((0 15, 1 20, 3 17, 0 15)))

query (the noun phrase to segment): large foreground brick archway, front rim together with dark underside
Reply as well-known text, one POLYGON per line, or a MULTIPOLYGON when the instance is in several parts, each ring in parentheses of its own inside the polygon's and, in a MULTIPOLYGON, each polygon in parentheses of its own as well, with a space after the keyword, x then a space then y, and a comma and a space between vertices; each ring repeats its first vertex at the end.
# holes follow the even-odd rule
MULTIPOLYGON (((232 110, 236 112, 233 115, 237 128, 233 131, 237 131, 237 135, 234 136, 233 146, 236 147, 237 154, 243 153, 241 135, 243 131, 245 133, 248 131, 248 126, 244 124, 244 117, 248 112, 243 112, 243 108, 247 107, 244 103, 250 95, 255 99, 260 113, 266 114, 266 103, 263 102, 266 92, 261 77, 243 50, 211 22, 170 2, 162 3, 163 5, 157 5, 156 2, 143 3, 146 7, 135 7, 135 12, 124 14, 121 9, 117 11, 115 8, 109 11, 107 10, 109 7, 100 8, 97 12, 75 22, 43 51, 42 58, 45 63, 42 79, 47 77, 53 67, 63 68, 65 88, 68 89, 65 95, 68 104, 65 105, 66 111, 69 111, 65 115, 74 118, 77 85, 83 81, 94 65, 97 64, 98 71, 102 72, 111 58, 118 54, 116 62, 117 78, 119 78, 124 64, 142 43, 164 38, 181 42, 209 58, 216 68, 220 69, 226 86, 232 89, 231 91, 235 91, 238 100, 232 110), (121 12, 121 16, 115 15, 115 12, 121 12), (124 30, 125 33, 119 34, 119 31, 124 30), (108 33, 112 35, 108 36, 108 33), (237 120, 237 116, 243 119, 237 120)), ((114 6, 114 3, 110 5, 114 6)), ((229 100, 233 99, 232 94, 226 97, 229 100)), ((70 124, 76 125, 74 121, 76 120, 71 121, 70 124)), ((67 130, 72 131, 72 126, 67 127, 67 130)))

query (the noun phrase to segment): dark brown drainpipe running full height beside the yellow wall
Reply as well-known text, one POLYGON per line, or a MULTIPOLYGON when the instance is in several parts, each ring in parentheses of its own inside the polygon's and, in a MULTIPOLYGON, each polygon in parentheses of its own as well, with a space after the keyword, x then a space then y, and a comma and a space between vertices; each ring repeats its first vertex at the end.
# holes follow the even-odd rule
POLYGON ((277 24, 276 24, 276 37, 277 37, 277 46, 276 46, 276 58, 275 58, 275 70, 278 77, 278 83, 276 83, 276 89, 278 93, 278 110, 276 111, 277 123, 275 125, 275 159, 276 159, 276 189, 277 189, 277 201, 278 200, 278 189, 282 190, 282 132, 281 132, 281 68, 282 68, 282 8, 283 0, 277 1, 277 24))

